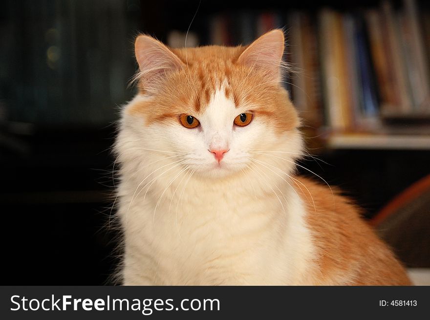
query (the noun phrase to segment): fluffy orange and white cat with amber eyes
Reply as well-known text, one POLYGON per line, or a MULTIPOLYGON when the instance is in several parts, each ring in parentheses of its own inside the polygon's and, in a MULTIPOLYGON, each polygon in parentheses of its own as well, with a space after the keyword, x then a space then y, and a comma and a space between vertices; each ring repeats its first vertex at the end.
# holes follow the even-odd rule
POLYGON ((123 284, 410 284, 356 206, 296 175, 283 54, 279 29, 236 47, 136 38, 114 146, 123 284))

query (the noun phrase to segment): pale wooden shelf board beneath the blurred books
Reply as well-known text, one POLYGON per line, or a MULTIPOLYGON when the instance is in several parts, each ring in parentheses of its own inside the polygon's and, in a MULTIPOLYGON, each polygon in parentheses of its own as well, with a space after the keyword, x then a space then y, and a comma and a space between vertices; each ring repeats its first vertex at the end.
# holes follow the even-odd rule
POLYGON ((430 150, 430 135, 333 134, 329 149, 430 150))

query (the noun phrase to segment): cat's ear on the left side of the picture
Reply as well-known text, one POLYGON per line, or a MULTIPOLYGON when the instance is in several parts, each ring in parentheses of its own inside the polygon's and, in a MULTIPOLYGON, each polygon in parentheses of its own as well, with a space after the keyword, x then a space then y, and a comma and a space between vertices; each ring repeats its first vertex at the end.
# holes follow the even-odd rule
POLYGON ((184 63, 163 43, 146 35, 141 35, 134 42, 134 53, 139 72, 139 80, 146 92, 157 90, 160 80, 171 71, 184 67, 184 63))

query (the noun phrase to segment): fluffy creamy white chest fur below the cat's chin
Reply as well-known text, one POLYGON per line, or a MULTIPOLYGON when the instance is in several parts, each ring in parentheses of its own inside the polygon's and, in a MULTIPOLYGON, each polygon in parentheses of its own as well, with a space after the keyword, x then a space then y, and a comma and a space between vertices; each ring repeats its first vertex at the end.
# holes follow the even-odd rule
POLYGON ((261 193, 246 179, 185 184, 188 177, 138 196, 132 178, 122 184, 125 284, 306 283, 312 244, 290 186, 261 193))

